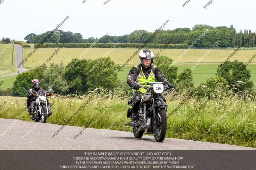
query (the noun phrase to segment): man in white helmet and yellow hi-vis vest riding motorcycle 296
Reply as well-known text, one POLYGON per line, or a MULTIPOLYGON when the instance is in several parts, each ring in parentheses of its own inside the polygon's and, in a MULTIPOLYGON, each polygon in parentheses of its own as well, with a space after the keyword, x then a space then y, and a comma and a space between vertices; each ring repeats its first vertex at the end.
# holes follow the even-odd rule
MULTIPOLYGON (((173 88, 173 85, 165 78, 163 72, 153 65, 154 53, 150 49, 143 49, 139 53, 140 64, 134 65, 127 78, 131 78, 133 81, 141 83, 143 86, 147 85, 147 82, 157 81, 164 82, 164 85, 168 85, 169 88, 173 88)), ((140 86, 131 80, 127 79, 127 84, 132 87, 132 121, 135 122, 140 106, 140 94, 145 93, 147 90, 140 88, 140 86)), ((164 98, 164 96, 163 96, 164 98)), ((165 101, 165 99, 164 99, 165 101)))

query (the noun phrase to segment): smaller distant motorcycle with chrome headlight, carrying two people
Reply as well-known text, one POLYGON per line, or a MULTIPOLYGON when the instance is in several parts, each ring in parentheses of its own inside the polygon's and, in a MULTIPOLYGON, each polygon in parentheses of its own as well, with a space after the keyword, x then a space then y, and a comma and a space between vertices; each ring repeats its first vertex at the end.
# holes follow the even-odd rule
MULTIPOLYGON (((47 117, 49 117, 49 110, 47 107, 47 100, 46 96, 51 96, 52 89, 49 89, 49 91, 45 91, 44 96, 39 96, 36 91, 33 91, 33 89, 29 89, 30 92, 32 92, 30 95, 36 96, 37 99, 35 101, 35 104, 32 105, 32 107, 35 107, 34 115, 32 115, 32 120, 35 120, 35 122, 42 121, 43 123, 46 123, 47 117)), ((29 96, 30 96, 29 95, 29 96)))

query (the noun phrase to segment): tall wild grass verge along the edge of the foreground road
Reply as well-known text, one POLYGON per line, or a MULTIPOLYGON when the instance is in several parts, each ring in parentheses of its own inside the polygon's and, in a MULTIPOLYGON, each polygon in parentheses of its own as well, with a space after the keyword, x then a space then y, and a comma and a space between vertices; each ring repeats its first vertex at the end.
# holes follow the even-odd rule
MULTIPOLYGON (((165 96, 168 104, 167 115, 187 97, 175 93, 168 93, 165 96)), ((124 123, 129 122, 126 113, 129 107, 127 97, 117 92, 108 92, 108 94, 99 92, 73 119, 68 121, 69 117, 88 99, 89 96, 50 98, 53 115, 47 119, 47 123, 132 130, 131 127, 124 126, 124 123)), ((7 104, 0 110, 1 118, 15 119, 26 110, 26 98, 0 97, 0 103, 4 101, 7 104)), ((212 100, 198 101, 190 98, 168 118, 166 137, 256 147, 255 103, 253 97, 239 100, 230 94, 222 98, 217 96, 212 100)), ((24 115, 21 120, 31 121, 28 115, 24 115)), ((70 134, 70 137, 74 135, 76 134, 70 134)))

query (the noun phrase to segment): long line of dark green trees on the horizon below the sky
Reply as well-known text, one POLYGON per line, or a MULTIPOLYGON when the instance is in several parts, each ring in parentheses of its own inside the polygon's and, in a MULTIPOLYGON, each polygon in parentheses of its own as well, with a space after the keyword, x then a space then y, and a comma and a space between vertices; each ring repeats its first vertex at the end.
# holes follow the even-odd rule
MULTIPOLYGON (((256 47, 255 34, 251 30, 240 30, 236 32, 236 29, 231 25, 230 27, 218 26, 212 27, 208 25, 196 25, 192 29, 189 28, 177 28, 174 30, 160 30, 157 35, 148 42, 150 37, 154 34, 145 30, 136 30, 128 35, 122 36, 110 36, 104 35, 102 37, 94 38, 90 37, 84 39, 81 33, 72 33, 57 30, 45 43, 93 43, 97 40, 97 43, 152 43, 152 44, 192 44, 202 33, 207 33, 200 38, 200 40, 194 45, 195 47, 211 47, 216 41, 220 41, 219 47, 256 47), (245 40, 248 37, 252 37, 246 43, 245 40)), ((30 33, 24 39, 27 43, 40 43, 50 33, 50 31, 42 34, 30 33)))

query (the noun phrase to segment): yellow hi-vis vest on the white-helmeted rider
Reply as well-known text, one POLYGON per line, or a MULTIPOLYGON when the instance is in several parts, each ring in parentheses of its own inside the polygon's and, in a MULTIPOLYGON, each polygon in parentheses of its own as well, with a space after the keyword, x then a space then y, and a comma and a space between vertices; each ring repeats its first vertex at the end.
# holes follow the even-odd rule
MULTIPOLYGON (((133 67, 136 67, 138 69, 138 65, 135 65, 133 67)), ((152 65, 152 67, 156 68, 156 65, 152 65)), ((154 82, 154 81, 156 81, 156 76, 155 76, 154 72, 152 71, 152 69, 151 69, 151 72, 147 79, 142 71, 142 66, 141 66, 140 73, 138 74, 138 76, 136 78, 136 82, 141 83, 141 85, 143 85, 143 86, 150 86, 150 85, 147 85, 147 82, 154 82)), ((136 90, 132 90, 132 91, 134 92, 136 90)), ((140 91, 142 93, 147 92, 147 90, 144 88, 140 88, 138 91, 140 91)))

